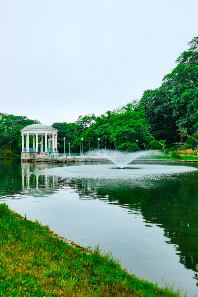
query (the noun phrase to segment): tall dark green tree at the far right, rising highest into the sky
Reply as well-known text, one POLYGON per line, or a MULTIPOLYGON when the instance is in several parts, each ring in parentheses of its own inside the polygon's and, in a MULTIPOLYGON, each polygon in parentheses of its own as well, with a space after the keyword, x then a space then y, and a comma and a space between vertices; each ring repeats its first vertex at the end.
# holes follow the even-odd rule
POLYGON ((177 129, 193 132, 198 119, 198 37, 177 58, 177 66, 163 78, 161 87, 144 92, 140 107, 145 110, 156 140, 178 141, 177 129))

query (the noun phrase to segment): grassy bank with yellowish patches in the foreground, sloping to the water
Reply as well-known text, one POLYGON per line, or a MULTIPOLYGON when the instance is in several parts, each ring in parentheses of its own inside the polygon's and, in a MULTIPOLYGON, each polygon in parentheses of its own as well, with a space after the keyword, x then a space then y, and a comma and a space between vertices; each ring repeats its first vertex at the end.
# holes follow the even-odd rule
POLYGON ((0 296, 179 296, 120 269, 109 255, 51 236, 0 204, 0 296))

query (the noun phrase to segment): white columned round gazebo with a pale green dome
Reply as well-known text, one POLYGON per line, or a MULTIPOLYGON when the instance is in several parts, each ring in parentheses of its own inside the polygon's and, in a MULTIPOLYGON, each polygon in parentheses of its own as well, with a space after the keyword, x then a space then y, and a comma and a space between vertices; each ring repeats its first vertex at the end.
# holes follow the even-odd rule
POLYGON ((20 130, 22 136, 22 151, 21 157, 33 157, 31 153, 34 153, 34 157, 48 157, 48 154, 57 154, 57 132, 52 126, 44 124, 28 125, 20 130), (33 135, 33 148, 29 146, 29 135, 33 135), (26 137, 26 147, 24 148, 24 136, 26 137), (41 138, 41 143, 38 143, 38 136, 41 138), (45 151, 43 151, 43 137, 45 140, 45 151), (35 146, 36 138, 36 146, 35 146), (35 155, 36 153, 36 155, 35 155), (42 156, 41 156, 42 154, 42 156))

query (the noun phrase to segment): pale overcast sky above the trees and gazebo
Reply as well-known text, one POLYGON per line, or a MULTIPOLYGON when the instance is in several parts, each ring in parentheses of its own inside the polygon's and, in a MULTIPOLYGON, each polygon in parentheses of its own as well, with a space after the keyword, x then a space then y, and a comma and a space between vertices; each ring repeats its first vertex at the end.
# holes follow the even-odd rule
POLYGON ((0 111, 53 124, 140 99, 198 35, 197 11, 197 0, 0 0, 0 111))

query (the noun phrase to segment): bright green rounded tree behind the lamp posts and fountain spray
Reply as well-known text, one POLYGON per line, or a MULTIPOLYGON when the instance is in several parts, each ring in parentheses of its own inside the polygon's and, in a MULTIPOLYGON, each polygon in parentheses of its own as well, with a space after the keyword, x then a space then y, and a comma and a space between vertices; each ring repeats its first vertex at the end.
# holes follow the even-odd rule
POLYGON ((100 147, 104 148, 106 142, 106 147, 113 149, 116 138, 118 150, 135 151, 140 149, 142 143, 146 143, 146 136, 150 135, 149 128, 145 113, 140 110, 137 102, 129 102, 95 118, 95 122, 82 131, 77 141, 80 143, 83 137, 84 150, 88 150, 89 142, 91 148, 96 149, 99 137, 100 147))

